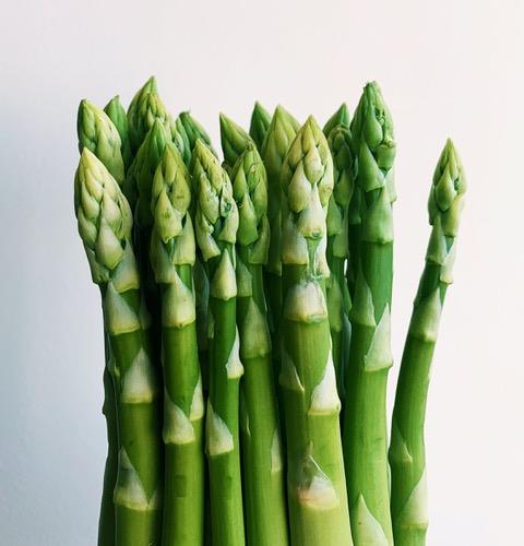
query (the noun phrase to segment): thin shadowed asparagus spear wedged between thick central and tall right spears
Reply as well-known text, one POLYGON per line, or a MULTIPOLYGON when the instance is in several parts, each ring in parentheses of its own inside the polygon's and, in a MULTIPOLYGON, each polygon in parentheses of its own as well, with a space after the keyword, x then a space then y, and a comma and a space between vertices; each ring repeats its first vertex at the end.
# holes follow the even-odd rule
POLYGON ((327 265, 331 271, 326 283, 326 293, 336 385, 338 395, 344 400, 344 370, 347 366, 350 339, 348 313, 352 308, 352 299, 345 277, 345 264, 349 259, 347 217, 355 188, 356 162, 352 151, 352 135, 347 123, 345 126, 333 126, 326 136, 333 156, 334 171, 334 188, 327 205, 326 218, 326 254, 327 265))

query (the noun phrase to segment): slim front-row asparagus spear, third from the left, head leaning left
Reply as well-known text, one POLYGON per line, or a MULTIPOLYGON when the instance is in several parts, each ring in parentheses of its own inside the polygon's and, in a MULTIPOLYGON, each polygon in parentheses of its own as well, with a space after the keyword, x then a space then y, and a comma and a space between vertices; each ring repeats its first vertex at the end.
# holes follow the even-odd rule
POLYGON ((210 272, 210 395, 206 453, 210 468, 212 539, 216 546, 245 544, 239 452, 239 383, 243 368, 236 328, 235 242, 238 209, 227 173, 198 140, 193 151, 196 240, 210 272))

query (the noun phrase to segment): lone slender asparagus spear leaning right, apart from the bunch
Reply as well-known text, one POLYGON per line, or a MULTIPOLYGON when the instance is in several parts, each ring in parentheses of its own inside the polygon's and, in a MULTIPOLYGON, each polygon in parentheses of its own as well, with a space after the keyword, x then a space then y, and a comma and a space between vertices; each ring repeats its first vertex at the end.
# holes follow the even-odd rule
POLYGON ((395 544, 398 546, 426 544, 426 400, 442 306, 448 286, 452 283, 455 237, 465 191, 461 161, 452 142, 448 141, 429 194, 431 236, 404 346, 393 410, 391 513, 395 544))

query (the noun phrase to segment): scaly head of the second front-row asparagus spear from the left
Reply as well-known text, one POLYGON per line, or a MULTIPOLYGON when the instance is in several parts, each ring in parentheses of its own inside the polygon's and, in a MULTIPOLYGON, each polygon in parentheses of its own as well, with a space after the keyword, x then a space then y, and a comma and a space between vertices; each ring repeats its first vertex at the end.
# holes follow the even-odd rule
POLYGON ((167 144, 153 179, 151 263, 156 282, 172 281, 174 266, 194 263, 189 171, 178 150, 167 144))

